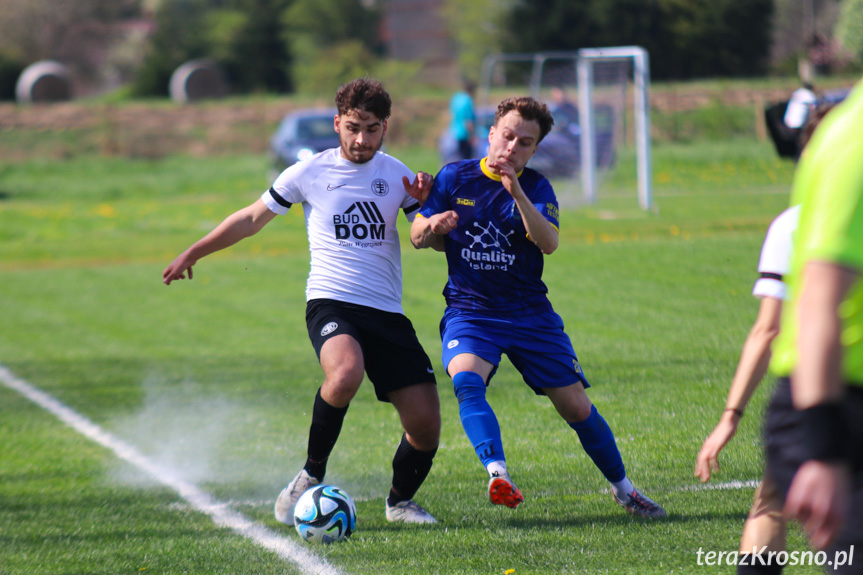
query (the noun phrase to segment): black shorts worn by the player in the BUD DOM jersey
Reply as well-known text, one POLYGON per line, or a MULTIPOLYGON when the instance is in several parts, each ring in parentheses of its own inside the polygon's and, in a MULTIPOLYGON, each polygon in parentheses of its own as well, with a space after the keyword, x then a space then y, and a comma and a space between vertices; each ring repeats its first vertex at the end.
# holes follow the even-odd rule
POLYGON ((306 327, 318 359, 328 339, 340 334, 353 337, 363 351, 366 375, 380 401, 391 391, 437 383, 431 360, 417 339, 413 324, 400 313, 331 299, 306 304, 306 327))

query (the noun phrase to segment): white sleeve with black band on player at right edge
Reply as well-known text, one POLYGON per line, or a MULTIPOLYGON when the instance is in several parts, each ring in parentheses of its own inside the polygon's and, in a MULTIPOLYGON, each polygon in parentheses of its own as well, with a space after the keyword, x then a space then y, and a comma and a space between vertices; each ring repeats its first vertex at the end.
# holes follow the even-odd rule
POLYGON ((779 214, 770 224, 761 246, 761 259, 758 260, 760 277, 752 288, 752 295, 788 299, 788 284, 783 278, 791 270, 792 240, 799 220, 800 206, 794 206, 779 214))

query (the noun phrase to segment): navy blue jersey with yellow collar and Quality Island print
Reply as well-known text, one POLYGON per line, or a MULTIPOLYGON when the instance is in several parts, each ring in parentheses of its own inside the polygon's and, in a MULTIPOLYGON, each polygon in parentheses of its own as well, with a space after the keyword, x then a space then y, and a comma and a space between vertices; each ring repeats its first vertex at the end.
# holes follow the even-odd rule
MULTIPOLYGON (((558 227, 557 198, 539 172, 525 168, 522 189, 558 227)), ((510 312, 550 307, 542 282, 542 252, 527 237, 515 200, 482 160, 448 164, 435 178, 420 216, 455 210, 458 226, 445 237, 449 280, 443 294, 454 308, 510 312)))

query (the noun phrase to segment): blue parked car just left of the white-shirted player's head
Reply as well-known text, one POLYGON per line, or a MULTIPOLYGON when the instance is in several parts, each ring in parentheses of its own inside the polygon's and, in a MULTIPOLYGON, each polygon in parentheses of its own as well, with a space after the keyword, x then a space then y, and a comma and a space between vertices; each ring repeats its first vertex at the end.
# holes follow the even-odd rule
POLYGON ((286 115, 270 139, 273 171, 311 158, 318 152, 339 147, 339 135, 333 128, 335 108, 297 110, 286 115))

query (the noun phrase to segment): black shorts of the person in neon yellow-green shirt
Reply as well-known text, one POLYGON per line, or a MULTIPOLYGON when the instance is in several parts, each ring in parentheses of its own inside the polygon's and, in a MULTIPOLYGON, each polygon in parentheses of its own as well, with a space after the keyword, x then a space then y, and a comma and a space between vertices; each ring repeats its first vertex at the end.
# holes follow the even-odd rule
MULTIPOLYGON (((834 551, 847 550, 851 545, 863 549, 863 388, 846 386, 843 407, 852 443, 852 493, 847 523, 834 543, 834 551)), ((791 402, 791 382, 787 377, 780 378, 767 407, 764 445, 767 473, 783 504, 794 475, 803 462, 810 459, 800 419, 800 413, 791 402)), ((853 565, 828 570, 828 573, 863 573, 863 557, 855 556, 853 565)))

